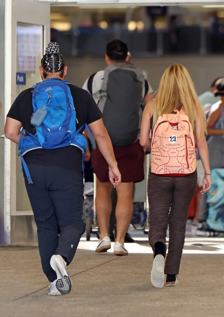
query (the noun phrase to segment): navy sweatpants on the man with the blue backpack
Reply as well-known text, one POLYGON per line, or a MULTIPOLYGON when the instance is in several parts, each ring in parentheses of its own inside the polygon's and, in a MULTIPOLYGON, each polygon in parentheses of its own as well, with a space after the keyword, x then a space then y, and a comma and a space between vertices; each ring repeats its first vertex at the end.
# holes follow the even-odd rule
POLYGON ((53 282, 57 275, 50 266, 51 257, 61 255, 70 264, 85 232, 83 172, 43 165, 28 165, 28 169, 33 184, 28 184, 26 175, 24 179, 37 225, 41 264, 53 282))

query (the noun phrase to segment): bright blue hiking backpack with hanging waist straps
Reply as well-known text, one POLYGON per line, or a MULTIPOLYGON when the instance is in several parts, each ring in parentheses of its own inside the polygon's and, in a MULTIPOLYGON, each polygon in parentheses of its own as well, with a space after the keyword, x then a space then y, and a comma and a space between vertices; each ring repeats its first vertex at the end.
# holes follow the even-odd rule
MULTIPOLYGON (((58 78, 49 78, 33 86, 33 116, 38 109, 46 109, 47 115, 44 116, 45 119, 40 126, 35 126, 35 135, 25 131, 26 137, 22 138, 24 128, 20 133, 18 155, 21 157, 21 165, 26 173, 28 184, 33 184, 33 182, 23 155, 31 150, 50 150, 70 145, 76 146, 82 151, 84 169, 84 153, 87 149, 87 142, 85 137, 79 133, 84 125, 76 130, 78 120, 68 84, 70 83, 58 78)), ((86 124, 85 126, 91 136, 88 126, 86 124)))

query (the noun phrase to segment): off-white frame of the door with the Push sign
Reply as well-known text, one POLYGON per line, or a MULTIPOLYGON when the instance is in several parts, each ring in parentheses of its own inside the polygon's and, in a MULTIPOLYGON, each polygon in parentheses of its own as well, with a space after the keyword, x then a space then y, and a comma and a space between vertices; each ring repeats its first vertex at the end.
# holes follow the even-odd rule
MULTIPOLYGON (((4 116, 16 99, 17 22, 43 25, 43 48, 50 42, 50 3, 29 0, 5 1, 5 91, 4 116)), ((11 215, 16 214, 16 145, 4 140, 4 233, 10 244, 11 215)))

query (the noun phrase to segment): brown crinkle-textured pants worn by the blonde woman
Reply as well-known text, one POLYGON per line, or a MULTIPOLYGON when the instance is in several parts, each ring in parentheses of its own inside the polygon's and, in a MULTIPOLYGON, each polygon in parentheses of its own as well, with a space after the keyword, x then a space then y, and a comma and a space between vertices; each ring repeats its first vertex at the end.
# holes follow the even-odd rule
POLYGON ((182 177, 166 177, 149 173, 149 244, 155 256, 155 243, 164 244, 169 224, 169 245, 165 274, 179 273, 186 222, 190 202, 196 191, 197 172, 182 177))

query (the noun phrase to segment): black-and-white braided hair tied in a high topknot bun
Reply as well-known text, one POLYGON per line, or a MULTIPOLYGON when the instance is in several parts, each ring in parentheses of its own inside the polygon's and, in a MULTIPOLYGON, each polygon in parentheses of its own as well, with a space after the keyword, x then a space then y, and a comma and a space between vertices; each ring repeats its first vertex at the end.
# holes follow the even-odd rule
POLYGON ((45 54, 41 59, 41 66, 44 70, 44 78, 47 74, 61 73, 63 77, 63 71, 65 67, 64 57, 59 53, 58 43, 49 43, 45 54))

